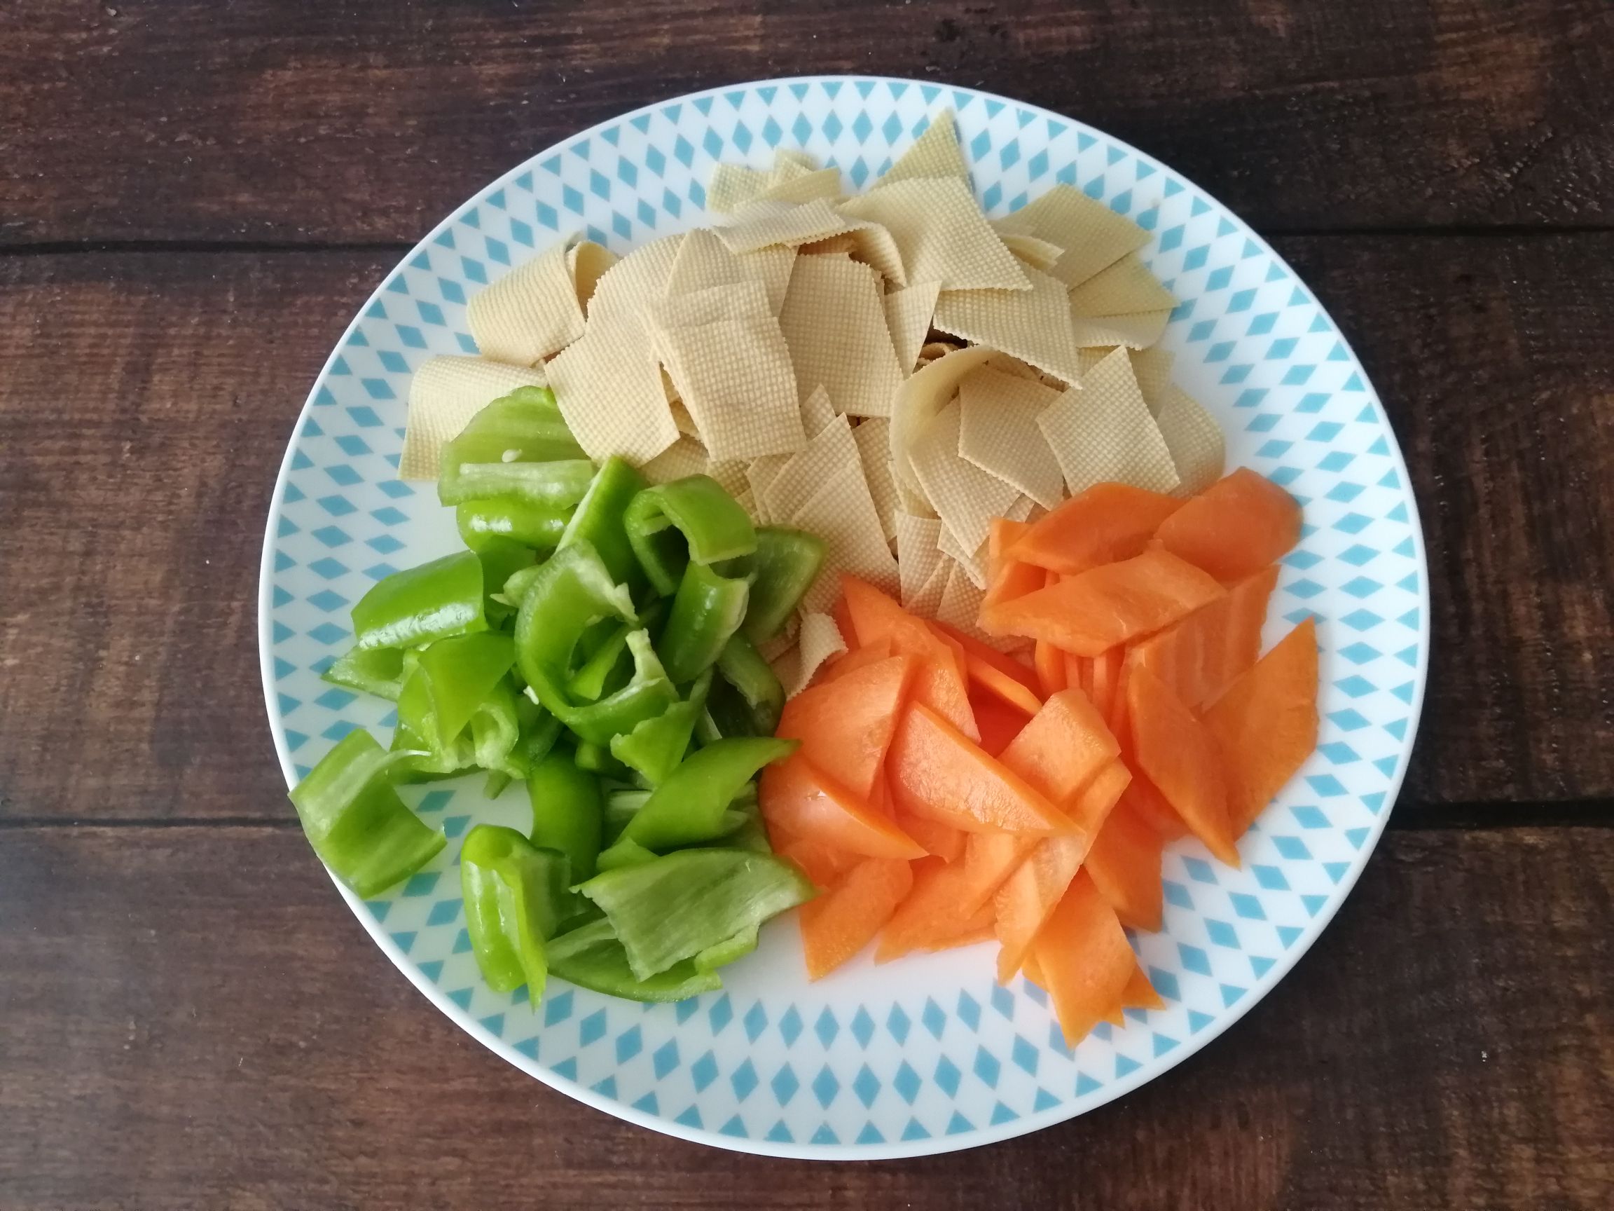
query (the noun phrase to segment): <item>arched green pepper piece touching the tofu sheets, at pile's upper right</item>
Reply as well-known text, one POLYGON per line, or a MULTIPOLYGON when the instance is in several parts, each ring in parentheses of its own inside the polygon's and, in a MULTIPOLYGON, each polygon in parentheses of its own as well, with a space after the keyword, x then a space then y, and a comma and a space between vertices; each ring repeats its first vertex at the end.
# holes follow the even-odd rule
POLYGON ((646 488, 628 505, 628 541, 650 588, 670 596, 684 564, 718 564, 757 549, 751 515, 709 475, 646 488))

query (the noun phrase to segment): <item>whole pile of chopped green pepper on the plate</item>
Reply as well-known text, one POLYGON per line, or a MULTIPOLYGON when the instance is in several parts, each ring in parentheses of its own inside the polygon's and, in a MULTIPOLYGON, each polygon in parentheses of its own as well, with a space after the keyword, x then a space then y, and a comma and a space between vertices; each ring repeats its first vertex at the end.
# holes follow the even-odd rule
POLYGON ((465 551, 353 607, 324 678, 397 704, 392 743, 349 733, 291 793, 324 864, 362 896, 444 848, 395 785, 481 770, 525 781, 528 833, 460 849, 466 932, 495 991, 549 974, 639 1001, 718 988, 759 927, 812 896, 776 859, 755 777, 784 694, 757 652, 823 562, 757 528, 715 480, 655 488, 596 467, 547 388, 494 400, 444 449, 439 499, 465 551))

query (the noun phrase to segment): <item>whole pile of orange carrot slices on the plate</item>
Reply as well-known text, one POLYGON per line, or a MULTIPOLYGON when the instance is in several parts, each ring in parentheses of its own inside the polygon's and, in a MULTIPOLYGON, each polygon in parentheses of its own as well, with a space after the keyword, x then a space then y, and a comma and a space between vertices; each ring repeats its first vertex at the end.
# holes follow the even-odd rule
POLYGON ((759 802, 822 890, 801 912, 822 978, 997 941, 1075 1045, 1164 1004, 1127 928, 1157 930, 1164 848, 1238 838, 1317 743, 1317 635, 1261 656, 1299 507, 1233 471, 1198 497, 1096 484, 1036 523, 999 518, 980 626, 1015 659, 846 576, 849 651, 786 704, 801 749, 759 802), (1259 659, 1257 659, 1259 657, 1259 659))

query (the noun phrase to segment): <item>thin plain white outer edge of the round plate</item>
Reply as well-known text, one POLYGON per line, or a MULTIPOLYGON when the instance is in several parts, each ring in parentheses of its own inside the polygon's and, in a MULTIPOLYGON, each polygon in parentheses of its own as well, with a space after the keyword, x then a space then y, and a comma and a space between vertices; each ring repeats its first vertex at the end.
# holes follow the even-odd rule
MULTIPOLYGON (((878 74, 778 76, 767 79, 718 84, 709 89, 699 89, 696 92, 684 92, 673 97, 665 97, 660 100, 647 102, 646 105, 641 105, 634 110, 625 110, 621 113, 615 113, 608 118, 600 119, 599 123, 594 123, 586 129, 573 131, 558 142, 549 144, 547 147, 533 152, 531 155, 515 163, 510 170, 507 170, 500 176, 478 187, 470 197, 462 200, 447 215, 444 215, 436 226, 433 226, 424 236, 421 236, 420 241, 416 241, 410 249, 407 249, 399 257, 399 260, 389 270, 386 270, 386 273, 376 283, 376 287, 358 305, 352 320, 347 323, 341 336, 336 339, 329 355, 326 357, 326 360, 323 362, 323 365, 320 367, 318 373, 313 378, 313 384, 308 389, 308 396, 303 399, 302 409, 299 409, 297 412, 297 418, 286 441, 286 452, 281 457, 279 471, 274 476, 274 488, 271 489, 270 496, 270 509, 265 518, 265 531, 263 531, 263 551, 258 560, 258 599, 257 599, 258 670, 263 683, 265 714, 268 715, 270 733, 274 741, 274 754, 276 759, 279 761, 281 775, 286 778, 287 790, 291 790, 297 783, 297 772, 291 757, 291 749, 286 741, 286 727, 281 719, 279 706, 276 702, 274 667, 273 667, 274 660, 273 626, 271 626, 273 588, 274 588, 274 549, 278 539, 278 528, 281 522, 284 489, 292 471, 292 460, 297 454, 297 436, 302 431, 305 418, 315 407, 315 397, 321 384, 331 373, 332 365, 341 357, 342 349, 347 346, 349 339, 353 336, 355 329, 363 321, 365 313, 370 310, 371 304, 374 304, 386 291, 386 284, 392 279, 392 274, 397 273, 400 268, 404 268, 410 260, 410 257, 413 257, 416 252, 429 245, 441 233, 449 229, 465 210, 479 205, 483 197, 500 189, 502 186, 510 184, 516 176, 526 171, 528 166, 536 165, 544 157, 554 155, 567 144, 571 144, 579 139, 592 139, 607 128, 620 126, 621 123, 628 123, 639 115, 654 113, 660 108, 665 108, 667 105, 692 103, 697 98, 704 97, 715 98, 721 97, 726 92, 736 92, 736 90, 749 92, 765 87, 789 87, 792 84, 813 86, 823 82, 836 82, 841 86, 857 84, 857 82, 873 82, 886 86, 902 84, 918 89, 935 87, 949 92, 970 94, 972 97, 978 97, 988 102, 1012 105, 1020 110, 1033 111, 1043 118, 1068 123, 1073 129, 1086 131, 1098 137, 1102 137, 1114 147, 1119 147, 1127 153, 1136 157, 1141 163, 1151 165, 1156 171, 1170 173, 1178 179, 1181 179, 1183 184, 1196 189, 1212 207, 1219 208, 1222 215, 1231 220, 1248 239, 1254 241, 1262 252, 1272 257, 1273 262, 1282 265, 1285 270, 1293 273, 1296 281, 1304 281, 1304 278, 1294 271, 1294 268, 1277 252, 1277 249, 1273 249, 1264 236, 1254 231, 1238 212, 1235 212, 1231 207, 1225 205, 1219 197, 1206 191, 1204 186, 1198 184, 1196 181, 1177 171, 1175 168, 1170 168, 1169 165, 1154 158, 1148 152, 1133 147, 1125 139, 1119 139, 1104 129, 1091 126, 1089 123, 1085 123, 1081 119, 1056 113, 1054 110, 1049 110, 1043 105, 1015 100, 1014 97, 1004 97, 1001 94, 988 92, 985 89, 975 89, 970 86, 947 84, 943 81, 918 81, 904 76, 878 76, 878 74)), ((481 1022, 471 1017, 468 1011, 460 1009, 458 1004, 449 999, 444 990, 441 990, 436 983, 428 980, 424 974, 418 969, 418 966, 412 959, 408 959, 408 956, 404 954, 404 951, 397 946, 392 937, 383 928, 381 922, 376 920, 374 914, 371 914, 366 909, 363 899, 357 893, 349 890, 329 869, 326 869, 326 874, 336 885, 337 893, 347 903, 349 911, 365 928, 370 938, 381 948, 381 953, 386 954, 387 961, 399 972, 402 972, 404 977, 412 985, 415 985, 415 988, 420 990, 426 996, 426 999, 431 1001, 433 1006, 436 1006, 442 1014, 445 1014, 457 1027, 465 1030, 471 1038, 475 1038, 478 1043, 486 1046, 494 1054, 505 1059, 508 1064, 515 1066, 516 1069, 539 1080, 549 1088, 563 1093, 576 1101, 581 1101, 583 1104, 591 1106, 592 1109, 610 1114, 612 1117, 623 1119, 638 1127, 646 1127, 662 1135, 671 1135, 681 1140, 688 1140, 691 1143, 710 1145, 726 1151, 749 1153, 755 1156, 805 1159, 805 1161, 889 1161, 889 1159, 907 1159, 917 1156, 936 1156, 943 1153, 964 1151, 968 1148, 980 1148, 989 1143, 1001 1143, 1002 1140, 1010 1140, 1020 1135, 1030 1135, 1033 1132, 1039 1132, 1047 1127, 1054 1127, 1062 1122, 1078 1119, 1085 1114, 1091 1114, 1093 1111, 1102 1106, 1107 1106, 1109 1103, 1115 1101, 1120 1096, 1135 1092, 1136 1088, 1146 1085, 1151 1080, 1164 1077, 1173 1067, 1177 1067, 1188 1058, 1198 1054, 1206 1045, 1220 1038, 1230 1027, 1240 1022, 1254 1006, 1264 1001, 1267 995, 1272 993, 1272 990, 1277 988, 1278 983, 1282 983, 1283 978, 1294 969, 1294 966, 1311 951, 1311 948, 1322 937, 1323 930, 1333 922, 1340 907, 1351 896, 1351 891, 1356 890, 1356 883, 1361 878, 1362 870, 1367 869, 1367 862, 1378 849, 1378 841, 1390 823, 1390 817, 1394 812, 1396 804, 1399 802, 1401 788, 1406 781, 1406 772, 1411 767, 1412 752, 1417 746, 1419 728, 1424 719, 1424 696, 1428 688, 1428 667, 1432 660, 1430 649, 1433 641, 1433 631, 1430 620, 1428 552, 1424 541, 1422 510, 1417 502, 1417 494, 1412 489, 1412 478, 1407 473, 1406 455, 1401 449, 1401 439, 1396 436, 1394 426, 1390 423, 1390 415, 1385 410, 1383 400, 1378 397, 1378 389, 1374 386, 1374 381, 1367 375, 1365 367, 1362 367, 1361 358, 1356 355, 1354 346, 1346 337, 1344 331, 1338 326, 1338 323, 1333 321, 1333 315, 1317 297, 1315 291, 1307 291, 1307 292, 1311 294, 1312 305, 1315 305, 1317 310, 1328 320, 1328 323, 1333 325, 1335 331, 1340 336, 1340 341, 1349 352, 1351 360, 1356 362, 1357 368, 1361 370, 1362 384, 1365 389, 1364 394, 1367 396, 1375 413, 1378 415, 1378 420, 1383 425, 1385 431, 1391 438, 1390 457, 1393 460, 1394 470, 1401 475, 1403 483, 1406 484, 1407 525, 1411 526, 1412 531, 1414 557, 1420 572, 1419 589, 1417 589, 1419 664, 1414 670, 1412 699, 1411 702, 1407 702, 1407 738, 1403 748, 1403 761, 1398 764, 1396 772, 1390 775, 1390 786, 1385 793, 1385 809, 1378 812, 1369 836, 1362 841, 1362 846, 1357 851, 1351 867, 1335 885, 1335 890, 1330 895, 1328 903, 1319 909, 1317 916, 1314 916, 1307 922, 1306 930, 1294 940, 1293 945, 1285 948, 1283 954, 1277 961, 1273 961, 1272 967, 1251 985, 1248 996, 1240 998, 1240 1001, 1230 1009, 1227 1009, 1225 1014, 1219 1016, 1207 1029, 1196 1032, 1190 1040, 1186 1040, 1181 1046, 1175 1048, 1169 1056, 1157 1056, 1154 1064, 1143 1064, 1136 1071, 1128 1072, 1125 1077, 1109 1082, 1107 1085, 1104 1085, 1101 1095, 1094 1101, 1085 1106, 1077 1106, 1073 1101, 1062 1101, 1057 1106, 1051 1106, 1041 1113, 1027 1114, 1023 1117, 1002 1122, 997 1125, 988 1124, 975 1127, 970 1132, 960 1132, 959 1135, 933 1135, 923 1140, 888 1140, 878 1145, 876 1143, 813 1145, 809 1142, 783 1143, 767 1138, 725 1135, 709 1127, 689 1127, 671 1117, 663 1117, 660 1114, 649 1114, 625 1101, 607 1098, 605 1095, 596 1093, 587 1085, 583 1085, 579 1080, 563 1077, 554 1072, 552 1069, 539 1064, 536 1059, 528 1058, 515 1046, 505 1043, 502 1038, 487 1030, 481 1022), (1159 1061, 1162 1059, 1169 1062, 1160 1064, 1159 1061)))

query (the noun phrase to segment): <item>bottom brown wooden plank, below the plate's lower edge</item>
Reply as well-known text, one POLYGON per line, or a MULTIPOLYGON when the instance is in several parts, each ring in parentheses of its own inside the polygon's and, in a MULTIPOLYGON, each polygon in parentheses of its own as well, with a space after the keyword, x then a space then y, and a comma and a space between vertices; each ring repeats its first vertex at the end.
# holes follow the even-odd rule
POLYGON ((1181 1067, 1010 1143, 826 1167, 508 1067, 294 830, 10 828, 0 1188, 8 1211, 1604 1208, 1611 901, 1609 830, 1393 832, 1317 949, 1181 1067))

